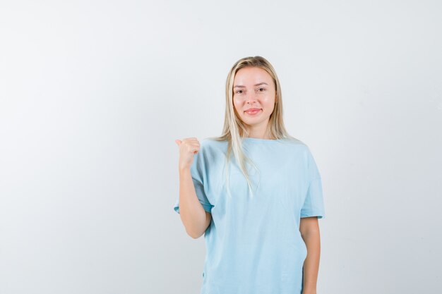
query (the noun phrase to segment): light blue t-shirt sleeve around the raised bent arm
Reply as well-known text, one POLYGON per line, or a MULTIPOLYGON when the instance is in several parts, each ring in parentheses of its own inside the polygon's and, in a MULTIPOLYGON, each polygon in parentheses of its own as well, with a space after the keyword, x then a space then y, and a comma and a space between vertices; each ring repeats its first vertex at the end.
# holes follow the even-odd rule
MULTIPOLYGON (((206 212, 212 212, 213 205, 210 204, 204 188, 204 181, 207 180, 206 162, 203 152, 203 144, 201 142, 200 149, 197 154, 193 155, 193 162, 191 165, 191 176, 193 186, 195 187, 196 197, 203 206, 206 212)), ((179 195, 174 204, 175 212, 179 213, 179 195)))

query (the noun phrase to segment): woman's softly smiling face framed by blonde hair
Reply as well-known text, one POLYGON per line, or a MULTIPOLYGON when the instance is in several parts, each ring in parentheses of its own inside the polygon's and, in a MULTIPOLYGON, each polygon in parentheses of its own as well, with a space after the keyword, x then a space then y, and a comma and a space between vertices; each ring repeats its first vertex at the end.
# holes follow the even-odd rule
POLYGON ((264 130, 275 109, 275 99, 275 85, 267 71, 255 66, 237 71, 233 83, 233 104, 246 125, 264 130))

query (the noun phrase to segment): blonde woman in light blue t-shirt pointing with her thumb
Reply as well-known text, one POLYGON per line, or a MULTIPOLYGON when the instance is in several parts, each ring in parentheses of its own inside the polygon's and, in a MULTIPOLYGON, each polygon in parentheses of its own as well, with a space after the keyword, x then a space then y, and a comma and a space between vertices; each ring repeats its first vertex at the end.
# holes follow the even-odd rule
POLYGON ((273 66, 261 56, 234 63, 222 136, 175 142, 174 210, 207 248, 201 294, 316 294, 321 175, 285 130, 273 66))

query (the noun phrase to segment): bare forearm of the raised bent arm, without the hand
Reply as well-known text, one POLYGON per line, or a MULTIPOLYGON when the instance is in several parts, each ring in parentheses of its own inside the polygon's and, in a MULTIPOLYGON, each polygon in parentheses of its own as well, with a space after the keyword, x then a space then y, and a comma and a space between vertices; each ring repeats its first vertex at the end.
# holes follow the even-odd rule
POLYGON ((199 238, 210 225, 212 214, 206 212, 196 196, 190 168, 179 169, 179 215, 192 238, 199 238))

